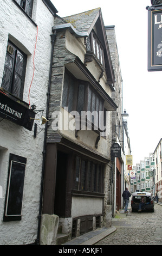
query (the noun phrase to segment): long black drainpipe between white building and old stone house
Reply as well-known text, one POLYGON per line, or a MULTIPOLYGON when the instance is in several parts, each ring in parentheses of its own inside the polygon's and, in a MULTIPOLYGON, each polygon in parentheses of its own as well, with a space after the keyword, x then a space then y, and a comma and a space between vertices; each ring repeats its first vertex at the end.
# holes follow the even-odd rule
MULTIPOLYGON (((53 63, 53 53, 54 53, 54 44, 56 40, 56 32, 51 36, 51 58, 50 58, 50 70, 49 70, 49 82, 48 82, 48 92, 47 92, 47 108, 46 108, 46 118, 48 119, 48 109, 49 109, 49 96, 50 96, 50 83, 51 83, 51 70, 53 63)), ((41 194, 40 194, 40 209, 38 215, 38 230, 37 230, 37 239, 35 240, 36 245, 40 245, 40 231, 41 231, 41 217, 42 217, 42 202, 43 202, 43 184, 44 184, 44 168, 45 168, 45 157, 46 157, 46 142, 47 142, 47 123, 45 124, 44 132, 44 145, 43 145, 43 163, 42 163, 42 178, 41 178, 41 194)))

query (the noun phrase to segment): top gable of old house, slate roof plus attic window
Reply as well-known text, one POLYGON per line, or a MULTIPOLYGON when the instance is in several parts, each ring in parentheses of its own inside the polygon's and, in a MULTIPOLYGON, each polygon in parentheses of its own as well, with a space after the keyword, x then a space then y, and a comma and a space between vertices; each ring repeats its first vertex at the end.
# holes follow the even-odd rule
POLYGON ((87 48, 85 65, 88 62, 92 62, 92 59, 95 59, 102 70, 100 78, 105 71, 107 84, 114 90, 114 71, 101 8, 60 19, 62 20, 61 25, 55 25, 53 31, 57 29, 69 29, 76 37, 85 38, 87 48))

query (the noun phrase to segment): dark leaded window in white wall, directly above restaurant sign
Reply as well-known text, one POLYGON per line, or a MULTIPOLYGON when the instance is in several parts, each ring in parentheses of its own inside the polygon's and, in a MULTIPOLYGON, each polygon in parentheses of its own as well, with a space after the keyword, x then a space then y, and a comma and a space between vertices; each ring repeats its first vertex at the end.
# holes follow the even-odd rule
POLYGON ((2 88, 22 100, 27 56, 8 41, 2 88))

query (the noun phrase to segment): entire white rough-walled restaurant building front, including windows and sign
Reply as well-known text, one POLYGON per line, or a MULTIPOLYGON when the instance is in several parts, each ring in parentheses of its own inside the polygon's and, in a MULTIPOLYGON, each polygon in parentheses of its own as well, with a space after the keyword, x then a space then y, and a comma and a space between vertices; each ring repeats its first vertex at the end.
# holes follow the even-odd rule
POLYGON ((1 245, 37 240, 44 144, 40 119, 42 112, 46 117, 56 12, 46 0, 1 1, 1 245))

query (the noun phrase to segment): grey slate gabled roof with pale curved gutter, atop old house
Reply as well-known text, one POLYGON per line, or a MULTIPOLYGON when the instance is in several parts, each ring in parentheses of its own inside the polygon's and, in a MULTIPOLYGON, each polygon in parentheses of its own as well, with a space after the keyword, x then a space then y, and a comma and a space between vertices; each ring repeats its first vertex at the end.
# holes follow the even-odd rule
POLYGON ((80 14, 74 14, 67 17, 59 17, 61 19, 61 23, 55 23, 52 30, 55 32, 57 29, 69 29, 72 34, 75 34, 77 37, 87 37, 89 36, 92 29, 96 28, 96 33, 104 47, 104 55, 105 55, 105 66, 108 84, 113 90, 114 84, 114 70, 111 60, 111 54, 109 52, 107 35, 105 31, 105 25, 102 19, 101 8, 96 8, 93 10, 85 11, 80 14))

